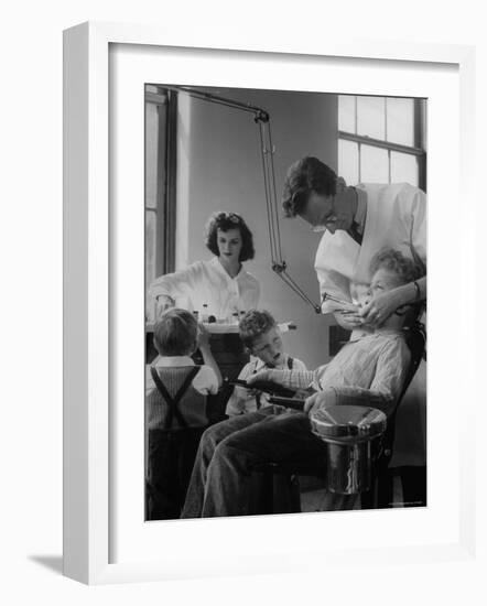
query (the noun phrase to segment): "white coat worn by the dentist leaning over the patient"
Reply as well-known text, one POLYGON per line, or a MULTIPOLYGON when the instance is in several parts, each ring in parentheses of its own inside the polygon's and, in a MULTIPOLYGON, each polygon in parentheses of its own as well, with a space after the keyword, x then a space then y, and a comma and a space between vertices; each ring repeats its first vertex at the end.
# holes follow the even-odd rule
MULTIPOLYGON (((390 247, 412 257, 411 244, 426 260, 426 195, 407 183, 359 184, 367 216, 362 244, 345 231, 325 231, 316 251, 315 270, 320 292, 353 301, 370 283, 369 266, 380 249, 390 247)), ((336 309, 325 302, 323 313, 336 309)), ((408 390, 396 419, 394 466, 425 465, 426 459, 426 372, 423 361, 408 390)))

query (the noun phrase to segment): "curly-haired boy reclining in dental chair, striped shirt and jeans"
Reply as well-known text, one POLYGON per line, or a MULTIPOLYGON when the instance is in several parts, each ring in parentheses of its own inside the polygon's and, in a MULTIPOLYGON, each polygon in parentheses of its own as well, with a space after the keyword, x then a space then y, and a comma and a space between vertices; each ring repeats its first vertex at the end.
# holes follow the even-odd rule
MULTIPOLYGON (((382 292, 419 280, 423 268, 388 249, 372 259, 370 274, 374 301, 382 292)), ((410 366, 402 332, 410 315, 398 310, 374 333, 350 340, 329 364, 314 371, 264 369, 249 377, 250 385, 272 380, 292 389, 313 387, 317 392, 306 399, 303 413, 271 414, 240 431, 225 431, 231 420, 209 428, 199 443, 182 517, 252 513, 252 470, 269 462, 315 468, 326 456, 326 446, 312 433, 310 415, 318 415, 324 408, 366 404, 388 414, 410 366)))

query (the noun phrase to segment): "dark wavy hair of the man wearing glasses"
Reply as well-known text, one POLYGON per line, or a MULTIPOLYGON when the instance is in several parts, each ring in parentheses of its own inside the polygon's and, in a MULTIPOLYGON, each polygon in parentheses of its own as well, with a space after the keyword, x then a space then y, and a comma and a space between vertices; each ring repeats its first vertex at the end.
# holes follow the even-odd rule
POLYGON ((307 155, 291 164, 285 175, 281 199, 284 215, 295 217, 301 213, 312 192, 334 196, 336 173, 317 158, 307 155))

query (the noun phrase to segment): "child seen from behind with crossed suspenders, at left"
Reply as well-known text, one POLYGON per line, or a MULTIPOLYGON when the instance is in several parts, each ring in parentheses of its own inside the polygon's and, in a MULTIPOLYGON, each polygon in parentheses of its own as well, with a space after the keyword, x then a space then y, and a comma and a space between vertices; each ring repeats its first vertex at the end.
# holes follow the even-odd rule
POLYGON ((208 425, 207 396, 221 376, 208 334, 186 310, 164 312, 154 326, 159 357, 148 368, 145 396, 145 513, 148 520, 178 518, 201 435, 208 425), (203 366, 190 357, 196 348, 203 366))

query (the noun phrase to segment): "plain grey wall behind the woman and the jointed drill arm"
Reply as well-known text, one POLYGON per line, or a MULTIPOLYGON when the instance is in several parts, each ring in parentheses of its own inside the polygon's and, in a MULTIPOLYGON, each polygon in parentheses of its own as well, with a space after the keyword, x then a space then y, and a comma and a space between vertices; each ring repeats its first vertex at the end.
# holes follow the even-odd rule
MULTIPOLYGON (((336 167, 335 95, 242 89, 214 93, 269 111, 278 201, 286 169, 299 158, 317 155, 336 167)), ((246 269, 260 282, 260 306, 278 321, 297 324, 297 331, 285 337, 291 355, 310 368, 324 364, 328 359, 328 318, 316 314, 270 269, 260 137, 252 115, 184 94, 180 98, 177 267, 210 257, 203 241, 210 213, 221 209, 241 214, 255 237, 256 258, 246 263, 246 269)), ((313 264, 320 235, 300 219, 282 218, 281 240, 290 275, 317 303, 313 264)))

